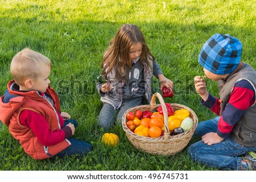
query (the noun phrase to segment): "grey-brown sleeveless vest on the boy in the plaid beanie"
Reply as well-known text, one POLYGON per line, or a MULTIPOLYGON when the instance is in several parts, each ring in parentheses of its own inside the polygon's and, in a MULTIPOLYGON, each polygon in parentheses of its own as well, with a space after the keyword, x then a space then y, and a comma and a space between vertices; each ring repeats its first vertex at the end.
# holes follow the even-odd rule
MULTIPOLYGON (((220 92, 221 99, 221 111, 220 115, 224 111, 226 104, 229 101, 230 94, 232 94, 234 84, 236 82, 245 79, 250 82, 256 90, 256 72, 249 64, 243 63, 241 68, 237 68, 229 75, 229 78, 223 82, 218 81, 218 90, 220 92), (238 69, 238 70, 237 70, 238 69)), ((255 93, 256 94, 256 93, 255 93)), ((240 120, 234 125, 230 136, 240 145, 251 147, 256 146, 256 104, 254 103, 247 108, 246 113, 240 118, 240 120)))

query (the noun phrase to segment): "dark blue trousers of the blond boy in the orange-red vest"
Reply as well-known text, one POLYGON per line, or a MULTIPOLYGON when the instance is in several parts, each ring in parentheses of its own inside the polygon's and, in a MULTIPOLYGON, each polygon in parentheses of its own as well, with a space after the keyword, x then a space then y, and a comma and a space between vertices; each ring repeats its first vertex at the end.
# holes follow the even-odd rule
MULTIPOLYGON (((71 122, 75 128, 77 127, 77 122, 75 120, 69 119, 64 121, 64 126, 69 124, 71 122)), ((74 155, 78 154, 79 156, 83 156, 89 151, 92 150, 92 145, 90 145, 87 142, 81 141, 79 139, 75 139, 73 137, 67 138, 69 142, 71 142, 71 145, 61 151, 60 153, 56 154, 55 156, 58 156, 59 158, 62 158, 64 155, 74 155)))

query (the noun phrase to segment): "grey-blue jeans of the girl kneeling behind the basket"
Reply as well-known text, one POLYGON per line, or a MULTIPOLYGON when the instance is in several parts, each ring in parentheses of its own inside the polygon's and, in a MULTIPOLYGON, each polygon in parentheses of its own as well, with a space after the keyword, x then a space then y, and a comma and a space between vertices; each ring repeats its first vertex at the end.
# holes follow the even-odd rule
POLYGON ((129 108, 136 107, 141 104, 142 98, 123 100, 121 107, 117 111, 112 105, 104 103, 101 112, 98 115, 98 124, 104 129, 109 129, 114 124, 115 116, 118 113, 116 119, 117 123, 121 125, 123 113, 125 113, 129 108))

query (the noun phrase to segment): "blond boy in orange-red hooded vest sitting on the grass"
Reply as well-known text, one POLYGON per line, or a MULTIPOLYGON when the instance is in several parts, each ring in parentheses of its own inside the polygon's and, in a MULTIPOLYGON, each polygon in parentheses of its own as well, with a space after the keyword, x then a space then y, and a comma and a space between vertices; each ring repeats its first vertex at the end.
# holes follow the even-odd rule
POLYGON ((77 122, 61 112, 56 92, 49 86, 51 61, 23 49, 11 61, 14 80, 0 98, 0 120, 34 159, 84 155, 89 143, 73 138, 77 122))

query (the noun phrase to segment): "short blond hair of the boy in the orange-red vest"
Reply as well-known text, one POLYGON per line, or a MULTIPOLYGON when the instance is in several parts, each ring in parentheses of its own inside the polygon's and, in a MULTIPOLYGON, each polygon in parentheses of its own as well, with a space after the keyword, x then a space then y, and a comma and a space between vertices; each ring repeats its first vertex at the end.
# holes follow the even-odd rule
POLYGON ((51 61, 46 56, 25 48, 13 57, 10 66, 11 75, 15 83, 24 86, 26 79, 38 78, 40 66, 42 65, 52 66, 51 61))

